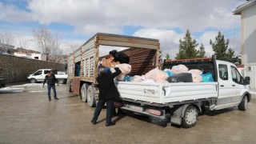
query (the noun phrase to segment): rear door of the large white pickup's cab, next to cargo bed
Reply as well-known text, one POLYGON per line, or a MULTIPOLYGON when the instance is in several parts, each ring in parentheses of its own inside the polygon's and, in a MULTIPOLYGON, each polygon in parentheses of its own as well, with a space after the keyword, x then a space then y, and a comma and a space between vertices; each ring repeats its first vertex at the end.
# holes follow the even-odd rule
POLYGON ((231 96, 234 94, 229 72, 228 65, 218 64, 218 106, 230 103, 231 96))

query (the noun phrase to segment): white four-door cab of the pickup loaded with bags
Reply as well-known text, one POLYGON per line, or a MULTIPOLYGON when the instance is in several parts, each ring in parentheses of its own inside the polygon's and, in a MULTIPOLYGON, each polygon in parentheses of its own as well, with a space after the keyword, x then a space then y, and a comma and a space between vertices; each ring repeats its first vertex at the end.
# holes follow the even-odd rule
MULTIPOLYGON (((250 78, 242 78, 237 67, 231 62, 217 60, 216 63, 218 69, 218 102, 214 110, 238 106, 242 101, 250 102, 250 94, 248 93, 250 78)), ((242 109, 246 109, 246 107, 242 109)))

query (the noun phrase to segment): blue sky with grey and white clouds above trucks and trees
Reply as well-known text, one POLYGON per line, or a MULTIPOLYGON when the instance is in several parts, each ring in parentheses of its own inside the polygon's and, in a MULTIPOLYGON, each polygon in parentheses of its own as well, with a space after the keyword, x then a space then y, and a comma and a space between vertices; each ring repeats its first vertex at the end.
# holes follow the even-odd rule
MULTIPOLYGON (((0 0, 0 33, 33 39, 32 30, 46 26, 62 33, 63 42, 86 42, 98 32, 160 40, 171 58, 178 40, 190 30, 206 54, 213 54, 210 39, 220 30, 230 47, 240 53, 240 15, 232 11, 246 0, 0 0)), ((30 49, 36 50, 32 42, 30 49)))

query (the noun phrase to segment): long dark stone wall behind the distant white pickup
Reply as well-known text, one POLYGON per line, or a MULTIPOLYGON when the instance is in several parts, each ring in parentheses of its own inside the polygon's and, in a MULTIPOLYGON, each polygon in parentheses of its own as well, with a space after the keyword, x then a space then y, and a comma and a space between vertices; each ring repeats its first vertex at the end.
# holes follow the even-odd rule
POLYGON ((0 54, 0 75, 6 76, 9 82, 26 82, 26 77, 38 69, 65 70, 65 65, 0 54))

